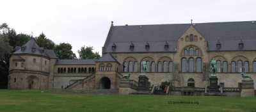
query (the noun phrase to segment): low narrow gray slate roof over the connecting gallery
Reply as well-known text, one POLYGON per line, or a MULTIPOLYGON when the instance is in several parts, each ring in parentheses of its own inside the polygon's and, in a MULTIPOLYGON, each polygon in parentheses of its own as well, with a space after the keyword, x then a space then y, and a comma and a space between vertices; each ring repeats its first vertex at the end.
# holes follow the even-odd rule
POLYGON ((97 59, 86 60, 57 60, 55 65, 96 65, 97 59))

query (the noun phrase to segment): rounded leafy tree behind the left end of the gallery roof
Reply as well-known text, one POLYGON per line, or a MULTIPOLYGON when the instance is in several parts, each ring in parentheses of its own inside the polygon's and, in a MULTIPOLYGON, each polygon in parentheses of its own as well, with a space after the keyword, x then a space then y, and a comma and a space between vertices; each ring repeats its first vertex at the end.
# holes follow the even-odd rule
POLYGON ((72 45, 68 43, 61 43, 59 45, 56 45, 54 48, 54 52, 61 60, 76 59, 76 54, 74 54, 72 51, 72 45))

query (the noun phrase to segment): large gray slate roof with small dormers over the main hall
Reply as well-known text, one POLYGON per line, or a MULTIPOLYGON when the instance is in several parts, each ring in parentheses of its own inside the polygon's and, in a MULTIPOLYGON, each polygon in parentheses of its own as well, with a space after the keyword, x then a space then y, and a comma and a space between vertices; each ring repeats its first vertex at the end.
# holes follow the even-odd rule
MULTIPOLYGON (((208 51, 248 51, 256 50, 256 23, 245 22, 212 22, 194 23, 195 29, 208 41, 208 51), (217 49, 218 38, 221 48, 217 49), (244 47, 238 44, 242 38, 244 47)), ((191 24, 157 24, 136 26, 113 26, 104 45, 108 52, 175 52, 176 42, 191 24), (134 44, 134 49, 129 46, 134 44), (145 49, 145 45, 150 48, 145 49), (164 44, 169 49, 164 49, 164 44), (116 49, 111 47, 115 43, 116 49)))

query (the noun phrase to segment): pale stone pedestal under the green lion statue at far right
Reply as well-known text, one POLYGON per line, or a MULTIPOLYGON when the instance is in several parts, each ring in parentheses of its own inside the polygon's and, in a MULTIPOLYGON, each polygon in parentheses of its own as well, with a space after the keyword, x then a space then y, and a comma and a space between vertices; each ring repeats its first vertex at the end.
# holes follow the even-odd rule
POLYGON ((253 80, 242 81, 241 97, 255 97, 253 84, 253 80))

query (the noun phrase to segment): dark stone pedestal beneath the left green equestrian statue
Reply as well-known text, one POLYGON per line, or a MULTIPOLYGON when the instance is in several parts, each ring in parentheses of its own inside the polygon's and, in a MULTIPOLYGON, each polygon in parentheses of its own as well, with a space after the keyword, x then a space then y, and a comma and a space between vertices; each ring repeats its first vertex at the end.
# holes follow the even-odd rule
POLYGON ((148 90, 148 77, 141 75, 139 76, 139 86, 137 88, 137 92, 129 93, 130 95, 149 95, 150 91, 148 90))

